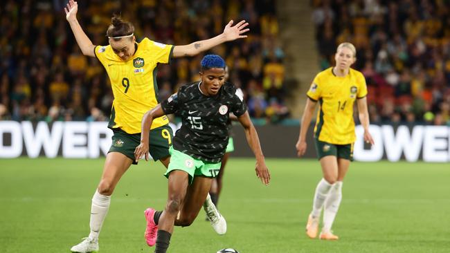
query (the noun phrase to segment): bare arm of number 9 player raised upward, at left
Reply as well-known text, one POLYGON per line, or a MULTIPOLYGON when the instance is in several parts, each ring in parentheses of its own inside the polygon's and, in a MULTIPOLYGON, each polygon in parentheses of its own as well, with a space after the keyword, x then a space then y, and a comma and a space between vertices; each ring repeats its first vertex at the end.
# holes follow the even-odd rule
POLYGON ((78 46, 80 46, 83 55, 96 57, 96 55, 93 53, 93 48, 95 48, 96 46, 92 44, 91 39, 87 37, 80 24, 78 23, 77 10, 78 3, 76 1, 69 0, 69 3, 67 3, 67 7, 64 8, 64 11, 66 12, 66 19, 71 26, 73 35, 75 36, 75 39, 77 40, 78 46))

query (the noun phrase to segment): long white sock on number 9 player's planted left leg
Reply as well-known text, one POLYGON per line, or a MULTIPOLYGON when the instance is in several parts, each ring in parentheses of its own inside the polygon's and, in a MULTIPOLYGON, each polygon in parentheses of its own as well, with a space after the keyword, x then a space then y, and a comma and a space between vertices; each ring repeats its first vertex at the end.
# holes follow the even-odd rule
POLYGON ((100 234, 100 229, 102 229, 103 221, 108 213, 109 204, 111 203, 111 196, 105 196, 98 193, 93 194, 92 205, 91 205, 91 221, 89 225, 91 227, 91 233, 89 238, 96 241, 98 240, 98 234, 100 234))

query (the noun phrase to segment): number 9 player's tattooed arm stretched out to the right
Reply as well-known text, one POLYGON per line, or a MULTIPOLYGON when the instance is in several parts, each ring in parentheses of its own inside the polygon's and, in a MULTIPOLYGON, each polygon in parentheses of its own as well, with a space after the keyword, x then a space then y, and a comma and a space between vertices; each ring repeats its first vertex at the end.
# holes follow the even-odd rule
POLYGON ((199 53, 209 50, 219 44, 222 44, 226 41, 232 41, 235 39, 246 38, 247 35, 242 35, 245 32, 248 32, 250 29, 246 28, 249 23, 245 20, 240 21, 237 25, 233 26, 233 20, 229 21, 225 26, 224 32, 221 35, 217 35, 211 39, 205 39, 201 41, 195 41, 191 44, 184 46, 175 46, 173 50, 173 57, 185 57, 185 56, 194 56, 199 53))

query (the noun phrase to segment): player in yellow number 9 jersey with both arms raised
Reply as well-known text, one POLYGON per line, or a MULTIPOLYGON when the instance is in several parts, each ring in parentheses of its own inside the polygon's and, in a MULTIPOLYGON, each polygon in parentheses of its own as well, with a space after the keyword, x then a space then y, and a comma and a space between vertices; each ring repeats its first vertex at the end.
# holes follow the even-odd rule
MULTIPOLYGON (((172 57, 197 55, 226 41, 244 38, 244 33, 249 29, 246 28, 246 21, 240 21, 235 26, 233 21, 230 21, 221 35, 185 46, 172 46, 147 38, 138 43, 134 36, 134 26, 119 17, 113 17, 112 24, 107 29, 109 45, 94 46, 78 24, 77 2, 70 0, 64 10, 82 53, 100 60, 109 75, 114 93, 109 121, 109 128, 114 135, 102 178, 92 198, 91 232, 89 237, 71 248, 72 252, 95 252, 98 251, 98 235, 109 209, 111 194, 125 171, 132 164, 136 164, 134 149, 141 143, 143 115, 159 104, 155 79, 157 64, 168 64, 172 57)), ((149 138, 152 158, 160 160, 168 167, 172 130, 168 127, 168 119, 165 116, 153 121, 149 138)), ((204 207, 208 216, 211 214, 210 221, 215 231, 224 234, 226 222, 218 214, 210 198, 206 199, 204 207)))

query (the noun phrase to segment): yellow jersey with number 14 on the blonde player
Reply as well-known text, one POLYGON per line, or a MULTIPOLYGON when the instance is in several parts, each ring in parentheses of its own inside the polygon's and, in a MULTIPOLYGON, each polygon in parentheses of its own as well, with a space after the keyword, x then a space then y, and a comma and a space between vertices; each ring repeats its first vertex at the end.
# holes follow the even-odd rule
POLYGON ((353 104, 366 95, 366 79, 359 71, 350 68, 345 77, 334 75, 333 68, 318 73, 307 92, 311 100, 320 104, 314 137, 331 144, 353 143, 353 104))

